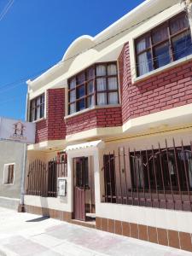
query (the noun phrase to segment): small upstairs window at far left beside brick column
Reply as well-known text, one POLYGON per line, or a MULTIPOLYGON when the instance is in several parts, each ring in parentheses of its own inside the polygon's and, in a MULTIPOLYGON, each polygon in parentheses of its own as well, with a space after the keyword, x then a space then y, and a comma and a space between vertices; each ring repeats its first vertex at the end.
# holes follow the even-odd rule
POLYGON ((30 102, 30 121, 44 117, 44 94, 36 97, 30 102))

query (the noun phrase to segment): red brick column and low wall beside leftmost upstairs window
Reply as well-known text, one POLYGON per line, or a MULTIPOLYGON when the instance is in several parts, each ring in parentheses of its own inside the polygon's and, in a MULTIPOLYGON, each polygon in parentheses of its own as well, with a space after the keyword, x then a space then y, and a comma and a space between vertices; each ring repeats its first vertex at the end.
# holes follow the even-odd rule
POLYGON ((60 140, 66 137, 65 90, 48 90, 46 104, 46 119, 42 119, 36 124, 36 143, 60 140))

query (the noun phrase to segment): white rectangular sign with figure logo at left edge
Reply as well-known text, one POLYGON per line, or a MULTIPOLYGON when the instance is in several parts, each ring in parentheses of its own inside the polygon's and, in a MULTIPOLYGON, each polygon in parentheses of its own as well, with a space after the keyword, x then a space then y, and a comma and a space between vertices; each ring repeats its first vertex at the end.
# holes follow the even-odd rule
POLYGON ((20 143, 35 143, 35 124, 0 118, 0 139, 20 143))

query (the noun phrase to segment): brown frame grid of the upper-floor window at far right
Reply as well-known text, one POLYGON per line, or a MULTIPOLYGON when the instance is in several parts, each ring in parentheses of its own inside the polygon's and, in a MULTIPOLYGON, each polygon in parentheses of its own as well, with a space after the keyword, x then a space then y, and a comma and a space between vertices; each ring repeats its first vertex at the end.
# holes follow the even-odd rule
POLYGON ((171 32, 171 22, 172 22, 172 20, 179 20, 179 18, 182 17, 183 15, 185 15, 185 13, 182 11, 182 12, 178 13, 177 15, 174 15, 172 18, 169 18, 169 19, 163 21, 162 23, 160 23, 160 25, 154 26, 154 28, 148 30, 148 32, 145 32, 141 36, 134 39, 134 53, 135 53, 135 61, 136 61, 136 63, 135 63, 136 66, 135 67, 136 67, 137 78, 140 78, 144 75, 147 75, 150 72, 154 72, 155 70, 157 70, 161 67, 165 67, 166 65, 172 64, 174 61, 179 61, 180 59, 182 59, 182 58, 179 58, 177 60, 175 59, 172 39, 176 38, 180 34, 183 34, 184 32, 189 32, 189 34, 190 34, 189 20, 188 20, 188 26, 187 27, 184 27, 183 29, 181 29, 177 32, 174 32, 174 33, 171 32), (163 39, 163 40, 160 40, 159 42, 153 44, 152 34, 156 31, 158 31, 161 27, 162 28, 166 27, 166 29, 167 29, 167 38, 163 39), (141 41, 143 38, 147 38, 147 36, 149 38, 148 48, 143 49, 142 51, 137 53, 137 43, 139 41, 141 41), (154 48, 158 47, 160 45, 166 44, 166 43, 168 43, 170 62, 165 64, 165 65, 162 65, 160 67, 155 67, 155 59, 158 60, 158 57, 154 56, 154 48), (144 52, 148 52, 148 51, 151 54, 151 62, 152 62, 152 67, 153 68, 152 68, 152 70, 149 70, 147 73, 139 74, 139 68, 138 67, 139 67, 140 64, 138 62, 138 55, 141 55, 144 52))

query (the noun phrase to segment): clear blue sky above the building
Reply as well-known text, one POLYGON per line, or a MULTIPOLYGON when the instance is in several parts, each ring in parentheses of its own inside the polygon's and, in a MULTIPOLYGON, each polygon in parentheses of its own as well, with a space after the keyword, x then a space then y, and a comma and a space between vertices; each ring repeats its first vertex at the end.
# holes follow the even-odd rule
POLYGON ((61 61, 75 38, 95 36, 142 2, 15 0, 1 20, 9 0, 0 0, 0 116, 25 119, 24 81, 61 61))

